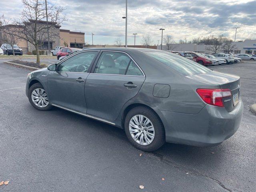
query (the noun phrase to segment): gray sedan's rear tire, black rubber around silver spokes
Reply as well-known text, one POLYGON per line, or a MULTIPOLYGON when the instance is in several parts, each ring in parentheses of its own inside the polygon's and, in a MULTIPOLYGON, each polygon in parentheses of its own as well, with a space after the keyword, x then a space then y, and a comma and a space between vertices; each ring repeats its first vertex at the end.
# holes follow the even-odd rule
POLYGON ((162 124, 162 121, 155 114, 153 110, 144 106, 138 106, 138 107, 132 108, 128 112, 124 121, 124 130, 125 130, 126 136, 128 137, 128 140, 132 143, 132 145, 146 152, 155 151, 165 143, 165 130, 164 130, 164 125, 162 124), (132 119, 134 118, 134 116, 137 116, 137 120, 139 121, 139 118, 138 118, 139 115, 142 115, 144 117, 142 118, 142 122, 144 121, 143 123, 146 122, 146 118, 150 120, 150 123, 148 123, 145 127, 142 127, 142 126, 139 127, 137 124, 134 124, 137 128, 130 126, 130 121, 135 122, 132 119), (150 127, 153 126, 153 128, 150 128, 151 130, 147 130, 146 128, 148 126, 150 127), (131 128, 131 131, 132 130, 137 131, 133 134, 133 136, 130 133, 130 130, 129 130, 130 128, 131 128), (152 129, 154 129, 154 132, 152 131, 152 129), (140 134, 137 141, 134 140, 134 137, 136 136, 136 134, 140 134), (150 134, 151 137, 152 137, 152 134, 154 134, 154 138, 152 139, 151 137, 148 136, 148 134, 150 134), (144 145, 139 143, 141 141, 140 140, 141 137, 142 137, 142 143, 144 143, 144 145), (146 142, 146 137, 150 138, 151 141, 148 140, 148 142, 146 142))

